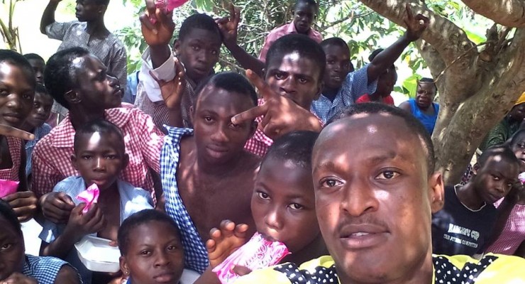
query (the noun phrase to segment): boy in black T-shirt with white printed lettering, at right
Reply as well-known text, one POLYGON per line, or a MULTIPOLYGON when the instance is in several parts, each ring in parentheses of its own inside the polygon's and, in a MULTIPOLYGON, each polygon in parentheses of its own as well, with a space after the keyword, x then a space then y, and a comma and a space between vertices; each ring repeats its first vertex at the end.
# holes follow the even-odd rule
POLYGON ((445 204, 432 216, 432 251, 473 256, 491 236, 496 222, 494 202, 517 182, 519 162, 507 146, 482 153, 479 170, 466 185, 445 187, 445 204))

